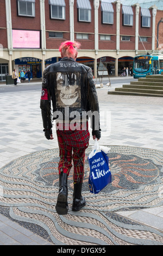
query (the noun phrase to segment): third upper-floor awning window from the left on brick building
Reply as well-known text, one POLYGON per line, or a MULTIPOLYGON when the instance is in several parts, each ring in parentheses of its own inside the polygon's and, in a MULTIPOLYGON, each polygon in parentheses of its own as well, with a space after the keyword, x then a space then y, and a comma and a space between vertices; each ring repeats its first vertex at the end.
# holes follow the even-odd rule
POLYGON ((78 21, 91 22, 91 4, 89 0, 77 0, 78 21))

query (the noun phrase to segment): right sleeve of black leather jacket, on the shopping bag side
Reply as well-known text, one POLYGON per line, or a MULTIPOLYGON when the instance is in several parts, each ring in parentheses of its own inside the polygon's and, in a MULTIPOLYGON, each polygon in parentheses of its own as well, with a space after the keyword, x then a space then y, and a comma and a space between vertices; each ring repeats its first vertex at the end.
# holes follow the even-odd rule
POLYGON ((88 101, 89 107, 92 113, 91 116, 91 128, 92 130, 101 131, 99 123, 99 104, 98 96, 96 92, 95 82, 93 80, 93 74, 91 68, 87 72, 88 78, 88 101))

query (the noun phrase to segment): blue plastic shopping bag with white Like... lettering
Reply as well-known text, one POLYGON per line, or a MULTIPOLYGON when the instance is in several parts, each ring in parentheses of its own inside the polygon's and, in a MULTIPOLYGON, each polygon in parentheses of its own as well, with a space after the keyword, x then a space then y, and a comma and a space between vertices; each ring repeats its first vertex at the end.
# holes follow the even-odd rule
POLYGON ((111 182, 108 153, 109 148, 99 146, 96 139, 95 146, 88 157, 90 166, 89 190, 91 193, 99 193, 111 182))

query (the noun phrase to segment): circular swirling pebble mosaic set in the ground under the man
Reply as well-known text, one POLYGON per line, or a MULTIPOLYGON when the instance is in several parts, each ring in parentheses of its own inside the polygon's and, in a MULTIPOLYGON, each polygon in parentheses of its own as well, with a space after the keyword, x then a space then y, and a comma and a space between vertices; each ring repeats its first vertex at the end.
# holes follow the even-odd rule
POLYGON ((163 153, 108 146, 112 182, 99 194, 88 188, 86 150, 83 196, 86 206, 71 211, 73 168, 68 176, 68 214, 55 211, 59 150, 29 154, 0 169, 0 212, 54 245, 162 245, 162 233, 117 214, 162 205, 163 153))

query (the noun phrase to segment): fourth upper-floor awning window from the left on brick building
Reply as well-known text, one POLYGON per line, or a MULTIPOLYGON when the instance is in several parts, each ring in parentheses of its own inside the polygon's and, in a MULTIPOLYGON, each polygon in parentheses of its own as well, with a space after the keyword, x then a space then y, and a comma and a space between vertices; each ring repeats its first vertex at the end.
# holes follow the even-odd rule
POLYGON ((103 2, 106 0, 102 0, 101 2, 101 10, 102 10, 102 23, 105 24, 113 24, 114 23, 114 9, 111 3, 103 2))

